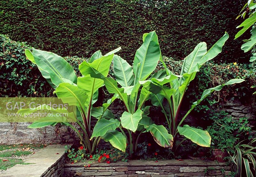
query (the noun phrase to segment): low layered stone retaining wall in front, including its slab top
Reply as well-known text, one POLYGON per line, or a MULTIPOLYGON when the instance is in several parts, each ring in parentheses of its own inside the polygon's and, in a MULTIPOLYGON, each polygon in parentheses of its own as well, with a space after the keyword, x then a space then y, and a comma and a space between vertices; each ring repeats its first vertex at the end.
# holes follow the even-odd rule
POLYGON ((115 176, 115 177, 175 177, 205 176, 224 177, 230 175, 230 167, 226 163, 204 160, 132 160, 116 163, 95 163, 84 167, 86 163, 65 164, 65 177, 73 176, 115 176))

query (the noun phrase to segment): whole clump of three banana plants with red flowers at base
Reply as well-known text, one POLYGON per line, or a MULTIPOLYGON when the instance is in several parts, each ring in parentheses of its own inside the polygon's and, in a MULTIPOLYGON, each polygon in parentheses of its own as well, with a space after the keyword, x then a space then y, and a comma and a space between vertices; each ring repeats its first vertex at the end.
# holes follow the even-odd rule
MULTIPOLYGON (((241 83, 244 80, 231 79, 209 88, 202 93, 200 99, 193 102, 182 117, 180 110, 189 83, 205 62, 212 60, 221 52, 228 37, 228 33, 225 33, 208 51, 205 42, 199 43, 184 59, 179 75, 173 74, 163 62, 155 31, 143 34, 143 43, 135 53, 133 66, 116 55, 121 48, 105 55, 99 50, 88 62, 83 61, 79 65, 81 73, 79 77, 61 56, 35 48, 32 51, 27 49, 25 50, 27 58, 37 65, 42 76, 55 90, 57 97, 64 103, 77 107, 74 114, 66 108, 54 109, 41 105, 37 109, 50 110, 54 116, 33 122, 29 128, 55 126, 57 123, 72 128, 81 144, 77 151, 67 148, 69 157, 74 162, 92 159, 108 163, 115 161, 116 156, 112 155, 117 151, 124 154, 116 160, 132 159, 138 152, 140 137, 144 133, 150 133, 156 144, 171 150, 174 154, 187 139, 199 146, 210 147, 209 133, 206 130, 183 125, 184 120, 212 92, 220 91, 225 85, 241 83), (115 78, 108 75, 112 62, 115 78), (163 64, 164 69, 155 72, 159 62, 163 64), (98 100, 98 90, 103 86, 109 94, 112 94, 112 98, 100 107, 94 107, 94 103, 98 100), (70 101, 70 98, 76 101, 70 101), (121 117, 116 117, 108 109, 115 100, 120 100, 126 109, 121 117), (151 105, 145 105, 146 101, 151 102, 151 105), (149 117, 152 105, 160 107, 167 122, 166 126, 156 124, 149 117), (68 113, 68 116, 60 118, 57 113, 68 113), (68 118, 75 123, 68 122, 68 118), (95 126, 92 126, 92 120, 96 120, 95 126), (101 140, 109 142, 116 150, 113 152, 99 150, 98 145, 101 140)), ((35 110, 21 109, 19 113, 35 110)))

